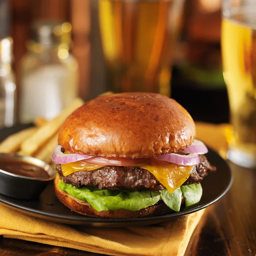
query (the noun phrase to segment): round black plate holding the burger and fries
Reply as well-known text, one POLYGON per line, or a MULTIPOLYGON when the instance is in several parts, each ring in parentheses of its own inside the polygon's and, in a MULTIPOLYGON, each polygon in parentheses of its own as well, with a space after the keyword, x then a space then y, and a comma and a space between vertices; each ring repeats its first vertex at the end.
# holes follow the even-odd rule
MULTIPOLYGON (((13 129, 13 131, 20 130, 21 128, 23 127, 20 126, 13 129)), ((3 140, 4 134, 7 135, 7 132, 10 133, 9 129, 0 130, 0 140, 3 140)), ((217 167, 217 172, 210 173, 201 182, 203 187, 203 196, 201 201, 191 209, 174 212, 164 216, 125 220, 85 217, 75 212, 71 212, 69 208, 65 207, 60 201, 58 201, 55 196, 53 183, 49 183, 49 186, 44 189, 40 198, 37 200, 25 201, 0 195, 0 202, 27 215, 64 224, 90 225, 94 227, 125 227, 155 224, 204 209, 218 201, 227 193, 233 182, 233 176, 227 163, 210 149, 207 153, 207 159, 217 167)))

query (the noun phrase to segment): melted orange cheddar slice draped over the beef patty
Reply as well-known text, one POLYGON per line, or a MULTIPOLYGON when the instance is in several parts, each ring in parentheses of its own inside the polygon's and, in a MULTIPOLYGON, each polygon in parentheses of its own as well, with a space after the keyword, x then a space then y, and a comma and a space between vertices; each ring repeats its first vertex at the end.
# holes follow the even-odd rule
MULTIPOLYGON (((64 176, 70 175, 73 172, 92 171, 101 167, 103 166, 89 164, 83 161, 61 164, 64 176)), ((193 166, 180 166, 166 161, 155 161, 153 163, 142 164, 138 167, 151 172, 166 187, 169 193, 174 192, 175 189, 180 187, 189 177, 193 169, 193 166)))

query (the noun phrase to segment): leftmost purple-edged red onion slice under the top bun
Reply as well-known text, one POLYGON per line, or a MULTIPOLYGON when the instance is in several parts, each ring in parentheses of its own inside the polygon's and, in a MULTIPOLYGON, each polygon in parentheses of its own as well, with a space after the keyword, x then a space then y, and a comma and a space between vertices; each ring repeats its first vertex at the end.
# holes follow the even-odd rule
POLYGON ((61 145, 57 145, 52 154, 53 163, 73 163, 89 159, 93 156, 87 154, 64 154, 61 152, 61 145))

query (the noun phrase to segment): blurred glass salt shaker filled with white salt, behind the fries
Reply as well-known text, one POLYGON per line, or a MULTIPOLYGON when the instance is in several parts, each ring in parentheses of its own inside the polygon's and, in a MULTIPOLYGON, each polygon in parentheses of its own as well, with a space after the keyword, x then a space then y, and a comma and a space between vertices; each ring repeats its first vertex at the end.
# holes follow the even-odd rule
POLYGON ((70 23, 38 22, 20 62, 19 121, 52 119, 78 94, 78 64, 69 52, 70 23))

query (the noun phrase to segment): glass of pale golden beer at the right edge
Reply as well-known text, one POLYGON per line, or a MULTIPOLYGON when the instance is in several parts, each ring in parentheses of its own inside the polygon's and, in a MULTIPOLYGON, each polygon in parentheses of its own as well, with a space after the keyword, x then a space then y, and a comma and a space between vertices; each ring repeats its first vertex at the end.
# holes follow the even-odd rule
POLYGON ((233 139, 227 157, 256 167, 256 0, 223 0, 221 32, 233 139))

